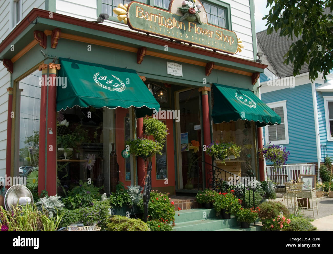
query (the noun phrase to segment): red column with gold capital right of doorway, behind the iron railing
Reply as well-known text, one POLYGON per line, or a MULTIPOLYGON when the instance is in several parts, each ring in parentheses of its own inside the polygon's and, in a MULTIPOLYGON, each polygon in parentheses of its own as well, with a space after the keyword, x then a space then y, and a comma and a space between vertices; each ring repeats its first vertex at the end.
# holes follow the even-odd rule
MULTIPOLYGON (((209 121, 209 103, 208 103, 208 91, 210 87, 200 87, 199 92, 201 92, 202 98, 202 123, 203 123, 203 143, 208 146, 211 142, 210 140, 210 121, 209 121)), ((205 162, 212 164, 211 157, 205 153, 205 162)), ((206 188, 208 187, 208 180, 212 177, 212 167, 205 164, 206 171, 206 188)))

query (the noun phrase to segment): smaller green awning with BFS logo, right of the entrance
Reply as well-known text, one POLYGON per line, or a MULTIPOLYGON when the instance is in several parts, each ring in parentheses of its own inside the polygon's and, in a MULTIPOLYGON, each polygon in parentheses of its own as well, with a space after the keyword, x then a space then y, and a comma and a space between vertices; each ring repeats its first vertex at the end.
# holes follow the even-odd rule
POLYGON ((255 122, 257 127, 281 123, 281 117, 250 90, 219 84, 213 84, 212 88, 214 123, 247 120, 255 122))

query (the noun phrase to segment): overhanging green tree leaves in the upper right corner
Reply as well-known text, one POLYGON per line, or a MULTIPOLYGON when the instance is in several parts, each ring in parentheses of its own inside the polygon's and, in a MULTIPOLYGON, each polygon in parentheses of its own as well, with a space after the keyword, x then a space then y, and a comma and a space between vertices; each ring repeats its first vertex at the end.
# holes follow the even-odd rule
POLYGON ((279 31, 280 37, 288 36, 293 40, 283 56, 284 64, 293 63, 296 76, 307 63, 311 80, 318 77, 318 72, 326 79, 333 68, 333 16, 323 15, 323 8, 332 10, 333 1, 267 0, 268 6, 271 7, 269 14, 263 18, 267 20, 267 34, 274 29, 279 31))

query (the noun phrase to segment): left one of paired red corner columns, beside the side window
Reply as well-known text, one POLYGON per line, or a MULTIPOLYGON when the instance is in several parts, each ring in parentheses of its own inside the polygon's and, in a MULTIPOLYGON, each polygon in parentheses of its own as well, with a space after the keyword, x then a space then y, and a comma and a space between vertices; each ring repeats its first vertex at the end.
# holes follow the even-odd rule
POLYGON ((39 160, 38 160, 38 194, 40 195, 45 186, 45 154, 46 154, 46 97, 47 97, 47 69, 48 65, 43 63, 38 67, 42 71, 42 87, 41 87, 41 108, 39 121, 39 160))

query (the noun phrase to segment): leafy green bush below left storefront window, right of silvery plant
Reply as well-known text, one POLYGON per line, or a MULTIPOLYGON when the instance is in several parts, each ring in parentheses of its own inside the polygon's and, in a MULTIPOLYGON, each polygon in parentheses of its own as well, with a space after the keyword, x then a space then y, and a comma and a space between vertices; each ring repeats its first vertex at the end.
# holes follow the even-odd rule
POLYGON ((82 181, 79 183, 80 185, 69 191, 68 196, 63 199, 67 209, 92 206, 94 200, 101 199, 101 194, 99 193, 101 188, 82 181))

